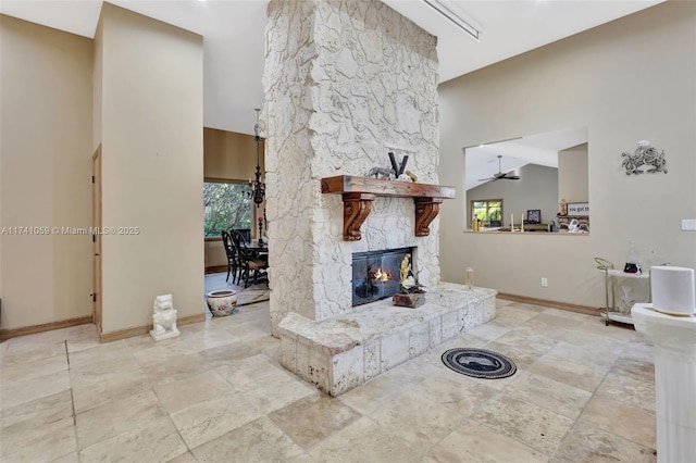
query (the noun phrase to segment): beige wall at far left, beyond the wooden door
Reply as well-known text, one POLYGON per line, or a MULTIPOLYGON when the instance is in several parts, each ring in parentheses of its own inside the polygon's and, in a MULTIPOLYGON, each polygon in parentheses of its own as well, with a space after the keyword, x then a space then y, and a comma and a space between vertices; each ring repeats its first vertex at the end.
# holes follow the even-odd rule
MULTIPOLYGON (((0 227, 89 227, 92 41, 0 15, 0 227)), ((89 235, 0 236, 2 328, 91 315, 89 235)))

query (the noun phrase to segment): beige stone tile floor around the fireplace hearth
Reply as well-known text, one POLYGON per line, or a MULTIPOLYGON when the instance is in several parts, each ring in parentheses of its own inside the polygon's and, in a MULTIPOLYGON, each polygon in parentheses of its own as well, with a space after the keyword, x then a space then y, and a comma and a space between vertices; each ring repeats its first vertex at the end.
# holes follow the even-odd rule
POLYGON ((498 317, 336 399, 278 364, 269 305, 99 345, 91 325, 1 347, 2 462, 655 462, 652 352, 632 327, 498 301, 498 317), (451 347, 510 356, 486 380, 451 347))

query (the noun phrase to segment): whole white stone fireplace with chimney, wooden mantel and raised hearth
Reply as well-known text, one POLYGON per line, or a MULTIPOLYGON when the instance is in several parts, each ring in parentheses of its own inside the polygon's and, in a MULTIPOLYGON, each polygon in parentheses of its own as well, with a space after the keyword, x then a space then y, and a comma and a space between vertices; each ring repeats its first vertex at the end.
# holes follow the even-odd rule
POLYGON ((490 320, 495 291, 440 283, 436 37, 380 0, 271 0, 268 17, 271 330, 336 396, 490 320), (389 152, 417 184, 365 179, 389 152), (355 304, 353 255, 386 249, 418 256, 424 305, 355 304))

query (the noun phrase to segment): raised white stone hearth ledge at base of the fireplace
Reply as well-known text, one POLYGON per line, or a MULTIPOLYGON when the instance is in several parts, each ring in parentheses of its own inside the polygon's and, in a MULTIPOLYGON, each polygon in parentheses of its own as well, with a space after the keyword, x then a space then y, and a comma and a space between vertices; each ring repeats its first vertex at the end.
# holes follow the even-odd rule
POLYGON ((283 366, 336 397, 496 314, 493 289, 445 283, 425 297, 417 309, 387 299, 324 320, 290 313, 279 325, 283 366))

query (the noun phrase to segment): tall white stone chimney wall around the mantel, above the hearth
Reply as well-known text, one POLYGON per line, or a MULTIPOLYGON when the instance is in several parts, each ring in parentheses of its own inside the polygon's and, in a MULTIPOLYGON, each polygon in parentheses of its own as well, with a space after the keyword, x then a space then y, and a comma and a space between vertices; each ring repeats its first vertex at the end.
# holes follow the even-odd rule
POLYGON ((344 241, 339 195, 321 178, 365 176, 408 155, 437 184, 436 37, 380 0, 271 0, 263 86, 271 328, 290 312, 350 312, 351 256, 418 249, 420 283, 439 284, 438 221, 414 236, 413 200, 377 197, 362 239, 344 241))

